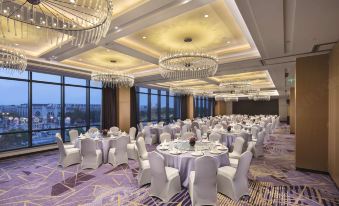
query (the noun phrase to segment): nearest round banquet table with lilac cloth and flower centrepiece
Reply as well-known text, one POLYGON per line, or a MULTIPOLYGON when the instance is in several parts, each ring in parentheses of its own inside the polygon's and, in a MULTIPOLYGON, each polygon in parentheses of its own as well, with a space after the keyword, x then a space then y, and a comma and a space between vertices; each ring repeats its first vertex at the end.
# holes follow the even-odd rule
MULTIPOLYGON (((204 144, 207 143, 203 142, 197 142, 196 144, 204 144)), ((188 141, 185 142, 169 142, 170 146, 169 148, 176 147, 178 144, 188 144, 188 141)), ((212 144, 212 143, 208 143, 212 144)), ((167 167, 173 167, 177 168, 179 170, 180 180, 182 183, 182 186, 188 187, 188 178, 191 171, 194 171, 194 163, 195 159, 202 156, 193 156, 192 152, 194 152, 193 148, 190 151, 184 151, 182 154, 171 154, 169 150, 161 150, 161 146, 158 145, 156 150, 162 154, 162 156, 165 159, 165 166, 167 167)), ((220 154, 212 154, 210 151, 202 149, 204 152, 204 155, 208 155, 214 158, 214 161, 217 163, 218 168, 222 166, 228 166, 230 165, 230 161, 228 159, 228 150, 221 151, 220 154)))

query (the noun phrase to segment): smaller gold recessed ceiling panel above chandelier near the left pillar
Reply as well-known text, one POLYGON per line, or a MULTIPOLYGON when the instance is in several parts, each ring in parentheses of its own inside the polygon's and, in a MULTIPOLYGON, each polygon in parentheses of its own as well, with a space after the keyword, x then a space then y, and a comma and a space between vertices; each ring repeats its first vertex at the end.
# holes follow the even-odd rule
POLYGON ((93 70, 123 71, 130 74, 155 67, 143 60, 104 47, 88 50, 66 59, 62 63, 78 67, 91 67, 93 70))

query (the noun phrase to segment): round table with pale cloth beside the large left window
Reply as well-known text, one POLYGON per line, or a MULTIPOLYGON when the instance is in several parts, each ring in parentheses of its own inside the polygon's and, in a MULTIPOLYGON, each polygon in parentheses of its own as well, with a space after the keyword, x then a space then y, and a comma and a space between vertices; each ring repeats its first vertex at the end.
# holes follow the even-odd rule
MULTIPOLYGON (((93 138, 95 140, 95 142, 97 143, 97 149, 100 149, 102 151, 102 156, 103 156, 103 163, 107 163, 108 162, 108 152, 109 152, 109 149, 110 149, 110 141, 113 141, 113 145, 115 145, 116 141, 118 139, 120 139, 120 137, 124 137, 124 136, 128 136, 128 134, 122 134, 122 135, 119 135, 119 136, 107 136, 107 137, 103 137, 103 138, 93 138)), ((81 137, 79 137, 78 139, 75 140, 75 144, 74 144, 74 147, 76 148, 79 148, 81 150, 81 137)))

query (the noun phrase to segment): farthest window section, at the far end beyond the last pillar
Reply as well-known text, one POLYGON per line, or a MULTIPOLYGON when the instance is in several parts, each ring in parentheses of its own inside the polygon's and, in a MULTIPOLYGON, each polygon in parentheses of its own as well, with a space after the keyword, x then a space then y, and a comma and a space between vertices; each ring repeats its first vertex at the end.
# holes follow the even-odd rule
POLYGON ((213 115, 214 100, 208 97, 194 97, 194 116, 207 117, 213 115))

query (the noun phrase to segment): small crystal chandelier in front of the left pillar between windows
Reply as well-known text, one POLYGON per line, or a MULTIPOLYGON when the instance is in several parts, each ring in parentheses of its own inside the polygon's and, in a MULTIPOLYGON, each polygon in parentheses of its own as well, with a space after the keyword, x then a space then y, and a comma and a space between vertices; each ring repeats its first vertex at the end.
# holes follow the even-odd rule
POLYGON ((134 77, 119 72, 92 73, 93 81, 102 82, 103 87, 133 87, 134 77))

